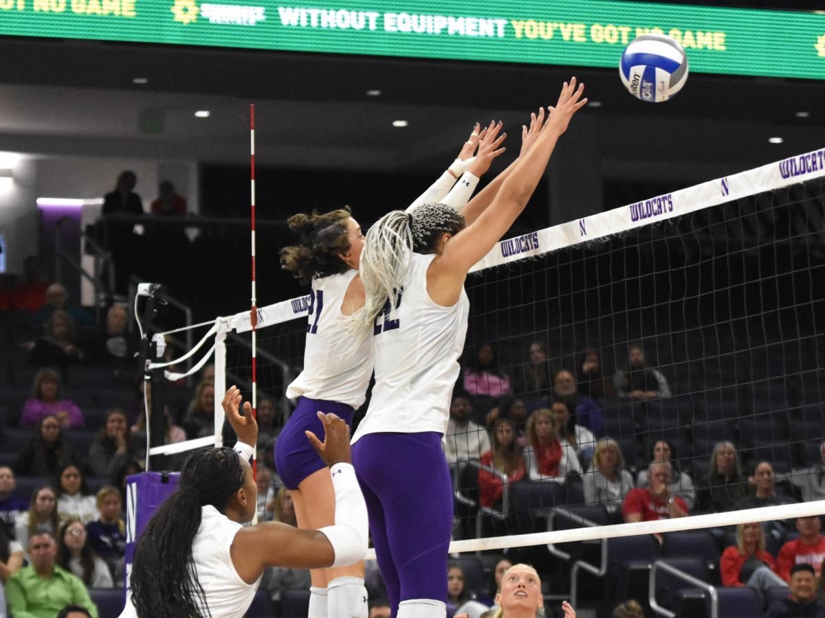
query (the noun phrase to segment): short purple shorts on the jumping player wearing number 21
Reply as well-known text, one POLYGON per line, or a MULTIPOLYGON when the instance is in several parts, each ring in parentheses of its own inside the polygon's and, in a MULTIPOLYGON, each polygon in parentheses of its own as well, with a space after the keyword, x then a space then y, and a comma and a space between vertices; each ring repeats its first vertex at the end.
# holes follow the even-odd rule
POLYGON ((298 398, 295 411, 275 442, 275 470, 284 481, 286 489, 298 489, 298 485, 307 476, 327 467, 304 435, 304 431, 309 430, 323 442, 325 433, 323 423, 318 419, 319 411, 337 414, 347 426, 351 426, 352 415, 355 414, 351 405, 337 401, 298 398))

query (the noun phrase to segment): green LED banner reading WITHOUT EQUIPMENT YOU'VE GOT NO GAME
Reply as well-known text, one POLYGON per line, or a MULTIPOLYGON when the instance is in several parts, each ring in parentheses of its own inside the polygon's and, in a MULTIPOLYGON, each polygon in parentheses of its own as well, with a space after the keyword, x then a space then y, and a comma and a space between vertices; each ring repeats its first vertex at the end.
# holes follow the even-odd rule
POLYGON ((825 14, 601 0, 0 0, 0 35, 618 67, 636 36, 698 73, 825 79, 825 14))

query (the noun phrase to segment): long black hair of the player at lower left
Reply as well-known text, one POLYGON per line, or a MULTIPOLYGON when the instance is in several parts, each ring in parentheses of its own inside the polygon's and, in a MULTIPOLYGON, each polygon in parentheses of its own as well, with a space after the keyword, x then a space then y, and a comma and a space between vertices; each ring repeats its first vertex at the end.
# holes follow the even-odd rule
POLYGON ((186 460, 177 492, 149 520, 134 550, 132 602, 140 618, 200 618, 203 611, 211 616, 192 542, 201 507, 223 513, 244 475, 238 453, 228 447, 196 451, 186 460))

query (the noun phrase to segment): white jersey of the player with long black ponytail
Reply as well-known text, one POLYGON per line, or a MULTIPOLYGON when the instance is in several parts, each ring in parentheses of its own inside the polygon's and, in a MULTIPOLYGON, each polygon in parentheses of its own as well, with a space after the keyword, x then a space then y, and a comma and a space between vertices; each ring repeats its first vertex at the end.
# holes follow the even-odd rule
MULTIPOLYGON (((231 521, 213 506, 200 508, 200 527, 192 542, 192 562, 212 618, 243 616, 252 605, 261 583, 261 578, 257 578, 255 583, 244 582, 232 564, 229 548, 241 528, 241 524, 231 521)), ((205 607, 199 609, 201 616, 209 615, 205 607)), ((137 612, 132 605, 131 594, 128 594, 120 618, 135 616, 137 612)))

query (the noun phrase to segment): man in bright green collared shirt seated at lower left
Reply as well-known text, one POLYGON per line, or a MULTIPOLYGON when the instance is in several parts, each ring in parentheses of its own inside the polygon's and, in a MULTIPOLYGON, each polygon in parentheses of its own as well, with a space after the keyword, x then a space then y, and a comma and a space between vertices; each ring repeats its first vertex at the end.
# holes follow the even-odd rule
POLYGON ((13 618, 54 618, 71 604, 85 607, 97 618, 97 606, 81 579, 54 564, 57 544, 49 531, 31 535, 29 555, 31 564, 6 582, 6 601, 13 618))

